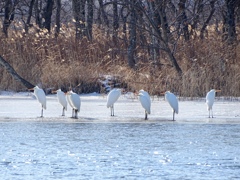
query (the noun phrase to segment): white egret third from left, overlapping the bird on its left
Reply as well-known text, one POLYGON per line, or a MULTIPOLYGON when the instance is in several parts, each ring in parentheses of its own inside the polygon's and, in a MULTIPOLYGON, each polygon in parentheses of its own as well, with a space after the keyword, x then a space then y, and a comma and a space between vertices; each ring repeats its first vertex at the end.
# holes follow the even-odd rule
POLYGON ((78 94, 74 93, 73 91, 68 91, 66 93, 67 95, 67 100, 70 104, 70 106, 73 108, 73 118, 78 118, 78 112, 80 112, 80 107, 81 107, 81 99, 78 94), (75 115, 74 115, 75 113, 75 115))

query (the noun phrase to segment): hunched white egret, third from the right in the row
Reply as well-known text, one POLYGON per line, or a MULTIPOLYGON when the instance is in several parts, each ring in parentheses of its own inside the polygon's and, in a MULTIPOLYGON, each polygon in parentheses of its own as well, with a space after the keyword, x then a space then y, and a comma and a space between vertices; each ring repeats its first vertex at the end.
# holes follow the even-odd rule
POLYGON ((148 92, 140 90, 139 91, 139 101, 142 107, 145 109, 145 120, 147 120, 147 115, 151 113, 151 101, 148 92))

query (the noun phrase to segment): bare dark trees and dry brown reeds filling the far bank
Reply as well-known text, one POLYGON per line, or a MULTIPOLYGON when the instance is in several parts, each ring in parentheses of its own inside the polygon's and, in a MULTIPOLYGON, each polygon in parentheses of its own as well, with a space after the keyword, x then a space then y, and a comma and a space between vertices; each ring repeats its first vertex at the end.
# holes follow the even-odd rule
MULTIPOLYGON (((239 0, 0 0, 0 55, 44 88, 240 96, 239 0)), ((22 85, 0 68, 0 89, 22 85)))

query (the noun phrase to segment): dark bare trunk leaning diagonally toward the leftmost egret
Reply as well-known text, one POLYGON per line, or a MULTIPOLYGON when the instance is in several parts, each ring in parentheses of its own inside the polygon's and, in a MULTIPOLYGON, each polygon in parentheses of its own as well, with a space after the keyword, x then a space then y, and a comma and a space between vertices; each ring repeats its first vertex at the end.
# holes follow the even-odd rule
POLYGON ((0 55, 0 65, 3 66, 3 68, 6 69, 7 72, 11 74, 16 81, 22 83, 26 88, 30 89, 34 87, 34 85, 32 85, 30 82, 28 82, 27 80, 19 76, 17 72, 13 69, 13 67, 1 55, 0 55))

